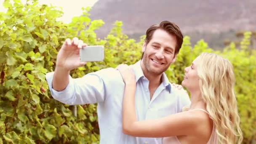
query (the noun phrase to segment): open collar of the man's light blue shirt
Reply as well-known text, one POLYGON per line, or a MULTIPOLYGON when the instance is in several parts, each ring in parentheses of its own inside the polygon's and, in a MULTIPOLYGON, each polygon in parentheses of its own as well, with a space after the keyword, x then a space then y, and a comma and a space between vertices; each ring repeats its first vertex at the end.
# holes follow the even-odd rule
MULTIPOLYGON (((135 64, 133 64, 133 71, 135 74, 136 83, 141 77, 145 77, 144 73, 142 71, 142 68, 141 68, 141 60, 139 60, 135 64)), ((169 91, 169 93, 171 93, 171 83, 168 80, 168 77, 165 75, 164 72, 163 72, 161 79, 162 79, 162 85, 169 91)))

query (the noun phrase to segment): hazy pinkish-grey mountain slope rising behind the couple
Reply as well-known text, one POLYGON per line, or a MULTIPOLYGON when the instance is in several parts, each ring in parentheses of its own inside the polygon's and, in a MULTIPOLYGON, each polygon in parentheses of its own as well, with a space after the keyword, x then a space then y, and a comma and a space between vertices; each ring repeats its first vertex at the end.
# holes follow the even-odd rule
POLYGON ((256 0, 98 0, 90 13, 105 22, 96 31, 99 37, 116 20, 137 40, 152 24, 173 21, 192 42, 204 38, 213 47, 221 46, 220 37, 234 39, 237 31, 256 30, 256 0))

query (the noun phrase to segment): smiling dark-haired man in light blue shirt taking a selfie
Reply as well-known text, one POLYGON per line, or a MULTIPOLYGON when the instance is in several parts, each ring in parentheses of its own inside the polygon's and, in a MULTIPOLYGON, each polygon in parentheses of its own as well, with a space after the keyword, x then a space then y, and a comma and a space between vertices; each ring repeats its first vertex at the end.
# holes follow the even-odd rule
MULTIPOLYGON (((147 30, 142 59, 133 65, 138 120, 164 117, 189 106, 187 93, 171 86, 164 73, 175 61, 182 43, 183 35, 172 22, 162 21, 147 30)), ((122 133, 125 84, 117 69, 101 69, 77 79, 69 76, 72 69, 85 64, 79 59, 83 46, 86 44, 76 37, 62 45, 55 72, 46 75, 53 98, 69 105, 98 103, 101 144, 161 144, 161 138, 137 138, 122 133)))

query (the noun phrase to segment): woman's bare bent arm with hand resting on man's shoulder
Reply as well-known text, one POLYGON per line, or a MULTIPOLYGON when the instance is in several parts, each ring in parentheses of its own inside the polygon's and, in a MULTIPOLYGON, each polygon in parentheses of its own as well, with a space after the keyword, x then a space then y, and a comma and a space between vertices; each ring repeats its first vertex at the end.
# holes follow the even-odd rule
POLYGON ((137 121, 135 110, 136 82, 131 67, 118 66, 125 82, 123 98, 123 133, 137 137, 168 137, 195 134, 202 115, 195 111, 181 112, 167 117, 137 121))

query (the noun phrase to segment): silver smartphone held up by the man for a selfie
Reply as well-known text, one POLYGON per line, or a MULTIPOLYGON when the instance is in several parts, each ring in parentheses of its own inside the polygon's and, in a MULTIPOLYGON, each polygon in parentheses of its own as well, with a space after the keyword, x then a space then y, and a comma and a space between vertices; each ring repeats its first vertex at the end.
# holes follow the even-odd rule
POLYGON ((104 60, 104 46, 90 45, 80 49, 80 61, 103 61, 104 60))

